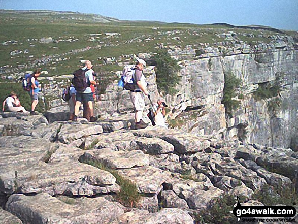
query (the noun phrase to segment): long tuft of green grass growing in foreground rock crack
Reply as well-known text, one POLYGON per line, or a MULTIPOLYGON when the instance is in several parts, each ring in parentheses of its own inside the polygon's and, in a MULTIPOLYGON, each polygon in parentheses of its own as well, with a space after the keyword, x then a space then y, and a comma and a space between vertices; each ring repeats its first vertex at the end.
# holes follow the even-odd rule
POLYGON ((104 162, 98 161, 81 161, 85 164, 89 164, 98 169, 108 171, 116 178, 116 183, 121 187, 120 192, 117 193, 115 199, 120 202, 122 205, 127 207, 134 207, 137 205, 138 201, 141 198, 141 195, 138 193, 138 188, 136 184, 131 182, 129 179, 121 176, 117 170, 110 168, 104 162))

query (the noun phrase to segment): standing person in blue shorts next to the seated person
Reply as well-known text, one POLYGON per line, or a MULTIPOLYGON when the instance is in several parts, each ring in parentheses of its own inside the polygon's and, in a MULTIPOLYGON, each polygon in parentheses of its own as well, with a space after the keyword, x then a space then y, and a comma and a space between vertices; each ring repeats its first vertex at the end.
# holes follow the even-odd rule
POLYGON ((29 78, 28 78, 28 83, 29 83, 29 94, 32 100, 32 105, 31 105, 31 111, 30 111, 30 115, 36 115, 37 113, 35 112, 35 108, 38 104, 38 94, 40 91, 39 86, 39 82, 37 81, 37 77, 39 77, 39 75, 41 74, 40 70, 36 70, 34 71, 34 73, 32 73, 29 78))

